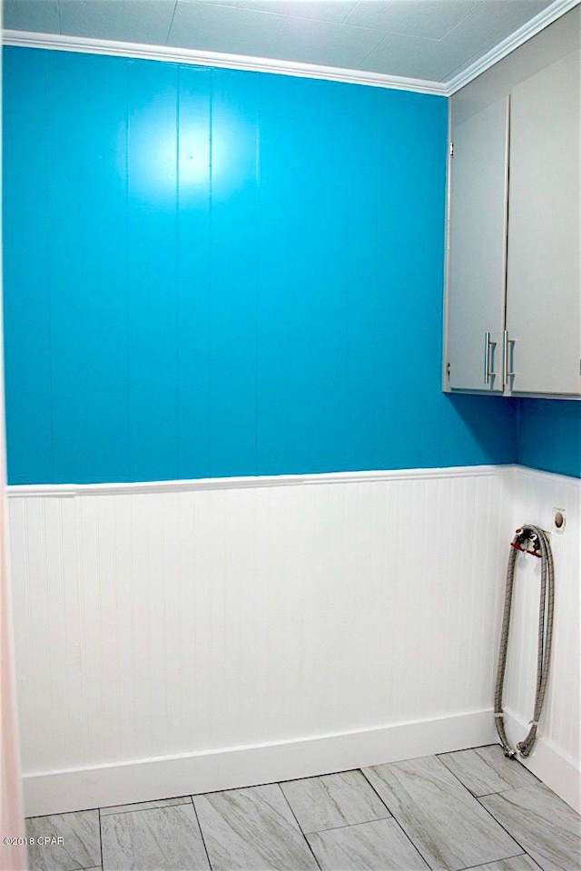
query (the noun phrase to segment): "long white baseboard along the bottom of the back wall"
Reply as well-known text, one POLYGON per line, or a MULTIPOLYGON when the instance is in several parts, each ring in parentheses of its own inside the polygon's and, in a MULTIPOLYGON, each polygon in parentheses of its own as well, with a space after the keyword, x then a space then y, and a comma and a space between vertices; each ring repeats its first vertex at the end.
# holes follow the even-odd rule
POLYGON ((307 739, 27 774, 25 815, 131 804, 447 753, 496 739, 492 710, 307 739))

